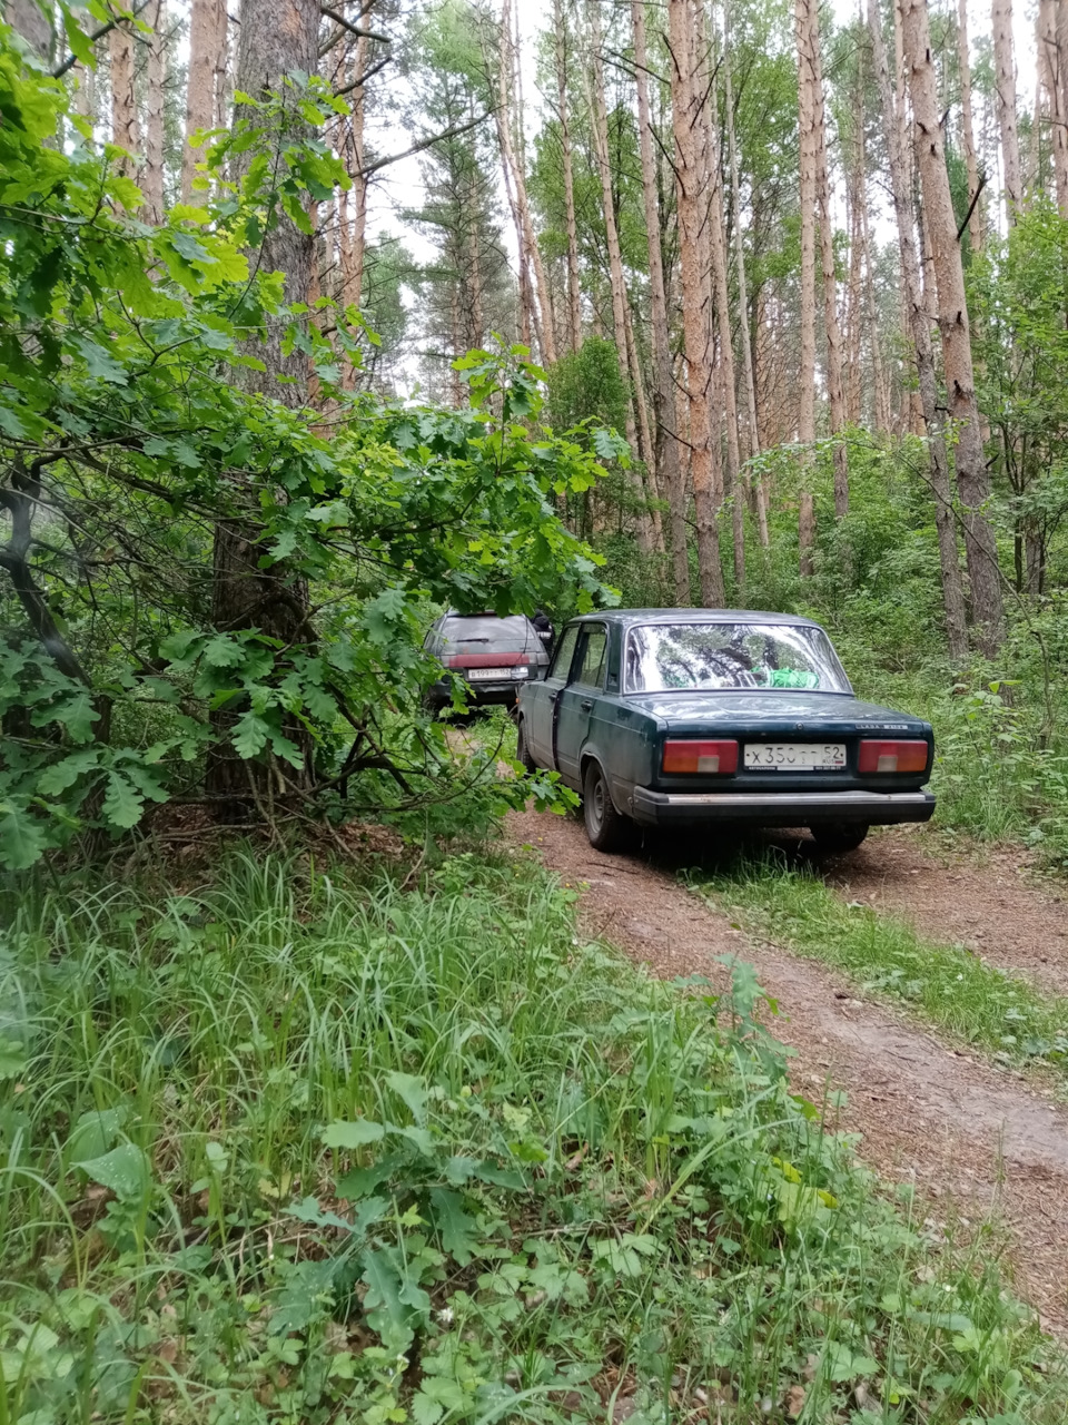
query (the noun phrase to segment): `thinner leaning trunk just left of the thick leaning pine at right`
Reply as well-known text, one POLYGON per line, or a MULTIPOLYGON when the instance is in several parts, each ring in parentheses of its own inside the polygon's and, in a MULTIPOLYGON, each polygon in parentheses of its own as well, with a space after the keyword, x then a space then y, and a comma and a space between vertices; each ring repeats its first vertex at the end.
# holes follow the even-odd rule
POLYGON ((941 569, 943 606, 946 608, 946 637, 950 657, 961 663, 968 656, 968 630, 964 607, 964 581, 957 551, 957 527, 950 484, 950 462, 938 412, 938 379, 934 369, 934 346, 931 343, 931 322, 924 302, 920 281, 920 258, 916 249, 913 227, 913 195, 907 167, 907 154, 900 144, 897 105, 890 90, 890 76, 886 66, 879 0, 867 0, 867 20, 871 33, 876 86, 883 108, 883 128, 890 135, 890 182, 897 219, 897 245, 901 256, 901 286, 906 318, 916 358, 917 380, 926 435, 931 462, 931 493, 934 496, 934 522, 938 534, 938 563, 941 569))

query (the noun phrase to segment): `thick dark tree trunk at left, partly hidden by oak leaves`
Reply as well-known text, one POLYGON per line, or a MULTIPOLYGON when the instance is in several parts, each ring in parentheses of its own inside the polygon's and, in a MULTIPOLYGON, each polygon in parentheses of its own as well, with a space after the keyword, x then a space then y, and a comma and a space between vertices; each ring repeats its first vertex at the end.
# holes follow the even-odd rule
MULTIPOLYGON (((283 94, 286 74, 315 74, 319 63, 318 0, 242 0, 238 41, 236 87, 253 97, 283 94)), ((288 95, 292 103, 292 95, 288 95)), ((282 217, 263 237, 259 269, 282 272, 288 304, 308 302, 313 289, 315 241, 282 217)), ((288 322, 272 319, 266 341, 249 343, 265 370, 242 368, 248 389, 262 390, 275 400, 299 408, 308 398, 308 358, 303 352, 285 351, 288 322), (279 380, 281 376, 289 378, 279 380)), ((251 493, 251 492, 249 492, 251 493)), ((261 567, 263 547, 255 524, 234 519, 215 533, 215 573, 212 586, 212 621, 216 628, 234 631, 258 628, 282 647, 306 644, 309 627, 308 584, 285 560, 261 567)), ((214 717, 219 742, 208 765, 208 795, 219 799, 224 814, 248 812, 249 801, 258 809, 271 807, 276 795, 299 797, 312 781, 310 744, 295 718, 286 735, 305 752, 300 771, 276 758, 271 762, 242 761, 229 745, 229 731, 236 712, 224 710, 214 717)))

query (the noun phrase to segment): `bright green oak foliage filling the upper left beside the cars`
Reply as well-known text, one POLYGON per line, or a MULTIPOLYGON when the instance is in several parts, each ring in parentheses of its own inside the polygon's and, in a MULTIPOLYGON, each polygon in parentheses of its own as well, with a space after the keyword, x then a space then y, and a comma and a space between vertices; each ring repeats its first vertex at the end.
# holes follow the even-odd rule
POLYGON ((320 137, 339 105, 316 78, 239 95, 204 207, 148 228, 124 214, 138 194, 112 152, 87 131, 47 142, 64 91, 0 28, 0 865, 128 831, 202 788, 221 751, 282 799, 299 785, 312 812, 333 798, 342 815, 339 788, 366 804, 383 768, 404 809, 449 798, 454 761, 420 708, 440 671, 422 650, 430 603, 608 597, 554 512, 601 467, 540 428, 525 351, 463 361, 461 410, 353 395, 342 363, 376 341, 360 315, 288 308, 281 274, 251 269, 273 224, 308 231, 309 201, 347 182, 320 137), (329 433, 244 388, 268 328, 306 356, 329 433), (235 529, 263 596, 241 628, 216 621, 214 549, 235 529))

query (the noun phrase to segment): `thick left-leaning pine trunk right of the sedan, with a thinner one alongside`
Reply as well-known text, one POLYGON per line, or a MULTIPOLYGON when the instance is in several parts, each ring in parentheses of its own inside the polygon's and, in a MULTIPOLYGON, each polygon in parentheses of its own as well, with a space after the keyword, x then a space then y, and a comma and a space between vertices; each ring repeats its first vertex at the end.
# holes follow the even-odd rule
POLYGON ((975 402, 964 265, 957 242, 950 178, 946 171, 927 0, 903 0, 903 30, 913 97, 916 157, 938 295, 947 405, 957 433, 957 492, 964 520, 964 551, 971 581, 973 616, 978 646, 993 658, 1001 647, 1004 634, 1001 576, 994 529, 984 510, 990 497, 990 475, 983 453, 975 402))

